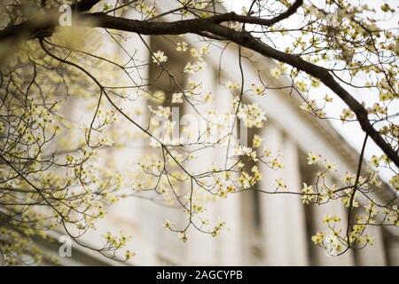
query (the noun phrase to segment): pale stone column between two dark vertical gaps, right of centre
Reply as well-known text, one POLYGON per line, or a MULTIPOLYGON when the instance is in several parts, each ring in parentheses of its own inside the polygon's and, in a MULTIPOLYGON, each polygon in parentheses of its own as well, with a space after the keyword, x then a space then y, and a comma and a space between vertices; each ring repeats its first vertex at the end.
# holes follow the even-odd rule
MULTIPOLYGON (((269 125, 262 135, 265 146, 273 154, 278 149, 285 156, 284 170, 270 170, 262 167, 262 190, 274 191, 276 179, 282 177, 286 189, 277 192, 300 190, 299 162, 296 147, 289 140, 284 142, 282 133, 275 125, 269 125)), ((308 264, 306 254, 306 231, 303 209, 298 196, 290 194, 262 194, 263 235, 266 264, 270 265, 305 265, 308 264)))

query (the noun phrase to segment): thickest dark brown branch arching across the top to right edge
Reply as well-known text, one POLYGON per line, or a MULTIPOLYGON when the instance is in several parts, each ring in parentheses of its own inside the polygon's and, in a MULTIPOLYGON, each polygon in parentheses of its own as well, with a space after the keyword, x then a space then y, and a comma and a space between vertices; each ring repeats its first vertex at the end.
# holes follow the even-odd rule
MULTIPOLYGON (((82 1, 82 2, 90 2, 93 4, 96 1, 82 1)), ((285 13, 282 13, 278 17, 274 19, 286 19, 301 6, 302 1, 296 1, 292 7, 290 7, 285 13)), ((82 7, 89 7, 90 5, 82 5, 82 7)), ((258 18, 239 16, 234 13, 228 13, 223 15, 217 15, 214 17, 210 17, 207 19, 193 19, 193 20, 177 20, 173 22, 148 22, 142 20, 129 20, 123 19, 119 17, 113 17, 106 15, 102 12, 97 13, 88 13, 80 15, 83 20, 90 20, 93 28, 112 28, 120 31, 133 32, 140 35, 181 35, 181 34, 197 34, 200 36, 206 36, 207 33, 211 34, 213 38, 223 38, 225 40, 231 41, 233 43, 237 43, 241 46, 244 46, 252 51, 256 51, 262 54, 265 57, 269 57, 271 59, 276 59, 280 62, 284 62, 292 67, 296 67, 297 69, 312 75, 313 77, 319 79, 323 82, 327 87, 329 87, 336 95, 340 97, 348 107, 356 114, 356 118, 359 121, 362 130, 368 134, 372 138, 372 140, 379 146, 379 148, 387 154, 387 157, 395 163, 397 167, 399 167, 399 155, 395 152, 394 148, 390 146, 384 138, 381 137, 379 132, 375 130, 368 119, 367 110, 362 106, 354 97, 352 97, 348 91, 346 91, 339 83, 337 83, 328 69, 324 67, 319 67, 315 64, 309 63, 301 59, 298 56, 293 54, 285 53, 282 51, 278 51, 273 49, 269 45, 262 43, 254 36, 250 35, 246 32, 236 31, 231 28, 226 28, 219 23, 226 19, 230 19, 229 17, 239 17, 240 20, 246 20, 247 23, 255 23, 256 19, 257 23, 259 23, 258 18), (94 25, 92 23, 95 23, 94 25)), ((273 19, 271 20, 273 21, 273 19)), ((269 24, 271 23, 269 22, 269 24)), ((277 20, 275 20, 277 21, 277 20)), ((83 21, 82 25, 85 24, 86 21, 83 21)), ((47 28, 56 26, 57 22, 47 23, 47 28)), ((4 30, 0 31, 0 40, 4 39, 4 36, 12 36, 13 33, 31 33, 30 38, 35 37, 35 35, 40 35, 43 32, 38 26, 29 26, 26 22, 21 23, 20 25, 13 26, 10 28, 4 28, 4 30)))

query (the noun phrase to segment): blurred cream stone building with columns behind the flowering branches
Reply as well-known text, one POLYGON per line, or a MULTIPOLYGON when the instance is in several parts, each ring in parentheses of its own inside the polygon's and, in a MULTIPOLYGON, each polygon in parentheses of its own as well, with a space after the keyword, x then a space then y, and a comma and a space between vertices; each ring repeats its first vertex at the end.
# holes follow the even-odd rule
MULTIPOLYGON (((168 54, 168 64, 176 65, 176 69, 184 67, 184 60, 178 56, 174 47, 162 37, 144 37, 153 51, 162 50, 168 54)), ((190 42, 192 36, 185 36, 190 42)), ((195 44, 192 42, 192 44, 195 44)), ((221 43, 222 44, 222 43, 221 43)), ((219 83, 219 63, 223 66, 223 80, 240 82, 237 49, 233 46, 223 51, 221 46, 210 47, 207 56, 207 69, 200 72, 197 80, 202 82, 202 89, 215 94, 215 107, 219 110, 226 107, 231 99, 228 91, 219 83), (219 61, 221 60, 221 61, 219 61)), ((222 46, 223 47, 223 46, 222 46)), ((138 38, 132 36, 125 48, 136 52, 139 62, 144 63, 139 73, 146 74, 150 83, 162 84, 165 78, 159 76, 156 67, 146 65, 151 62, 151 55, 138 38)), ((118 48, 116 48, 118 50, 118 48)), ((247 53, 252 64, 244 60, 247 82, 256 82, 258 72, 269 82, 277 79, 270 76, 270 68, 275 63, 270 59, 247 53)), ((138 72, 137 72, 138 73, 138 72)), ((133 72, 133 75, 138 75, 133 72)), ((181 84, 187 78, 181 75, 181 84)), ((290 85, 288 79, 280 78, 283 85, 290 85)), ((164 80, 163 83, 168 83, 164 80)), ((156 87, 153 87, 156 88, 156 87)), ((168 94, 167 94, 168 95, 168 94)), ((254 99, 254 98, 251 98, 254 99)), ((255 98, 255 102, 266 111, 268 122, 257 133, 262 136, 265 146, 271 150, 280 150, 284 156, 285 168, 274 171, 262 168, 263 179, 258 185, 272 188, 277 177, 284 177, 287 188, 293 193, 301 192, 301 182, 312 183, 314 172, 307 165, 306 155, 309 151, 323 154, 329 161, 340 165, 336 179, 346 171, 355 172, 358 154, 340 137, 336 130, 325 121, 316 120, 309 114, 301 112, 299 101, 291 97, 286 89, 268 91, 267 98, 255 98)), ((146 109, 145 99, 136 101, 146 109)), ((118 149, 109 152, 109 159, 124 164, 125 161, 139 159, 145 151, 153 151, 147 144, 137 144, 129 149, 118 149)), ((210 164, 223 161, 223 152, 208 150, 196 162, 199 170, 210 164)), ((262 167, 260 165, 260 167, 262 167)), ((333 179, 333 178, 332 178, 333 179)), ((378 196, 384 201, 389 196, 378 196)), ((151 199, 151 196, 149 196, 151 199)), ((211 237, 200 232, 191 232, 190 240, 180 241, 176 233, 163 227, 165 219, 178 221, 184 217, 181 209, 170 209, 139 198, 121 201, 109 209, 106 220, 98 224, 98 232, 120 231, 130 233, 136 256, 129 262, 135 265, 397 265, 399 264, 399 239, 395 228, 371 226, 368 233, 376 238, 374 246, 359 251, 349 250, 342 256, 327 256, 322 248, 317 248, 310 237, 318 231, 324 231, 322 219, 326 213, 337 214, 345 224, 348 209, 340 202, 325 205, 308 205, 301 202, 301 197, 294 194, 265 194, 256 191, 231 194, 227 199, 212 202, 208 205, 208 217, 214 222, 226 221, 228 230, 220 236, 211 237)), ((181 220, 183 222, 183 220, 181 220)), ((97 233, 100 235, 100 233, 97 233)), ((94 234, 86 237, 88 243, 100 241, 94 234)), ((101 240, 102 241, 102 240, 101 240)), ((45 247, 48 247, 46 244, 45 247)), ((57 252, 59 244, 53 243, 48 251, 57 252)), ((117 264, 107 260, 98 253, 87 249, 72 249, 72 257, 61 258, 62 264, 117 264)))

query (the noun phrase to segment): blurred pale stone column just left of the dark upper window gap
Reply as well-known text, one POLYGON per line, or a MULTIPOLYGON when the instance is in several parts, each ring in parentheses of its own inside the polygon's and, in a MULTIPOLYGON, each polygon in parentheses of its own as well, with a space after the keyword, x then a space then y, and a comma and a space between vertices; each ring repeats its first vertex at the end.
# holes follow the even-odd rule
MULTIPOLYGON (((126 17, 134 17, 135 11, 127 12, 126 17)), ((145 42, 149 44, 150 37, 143 36, 145 42)), ((150 53, 145 47, 145 44, 137 35, 130 34, 126 42, 122 42, 125 51, 130 55, 134 54, 134 62, 131 61, 129 55, 121 50, 119 46, 114 46, 114 52, 121 53, 121 64, 129 62, 129 65, 136 64, 137 68, 129 69, 129 76, 121 75, 121 83, 128 83, 129 85, 141 85, 146 82, 142 78, 148 78, 149 66, 151 62, 150 53)), ((121 71, 120 71, 121 72, 121 71)), ((120 83, 120 84, 121 84, 120 83)), ((142 90, 145 87, 141 88, 142 90)), ((143 127, 146 127, 147 115, 147 101, 140 94, 138 89, 130 89, 129 96, 134 100, 118 100, 115 99, 118 106, 128 114, 135 122, 143 127), (137 99, 136 99, 137 98, 137 99), (142 114, 137 114, 136 111, 141 110, 142 114)), ((143 135, 141 130, 138 130, 135 125, 126 120, 121 115, 118 115, 120 120, 116 122, 116 131, 121 136, 121 141, 126 144, 121 148, 113 148, 109 152, 107 161, 113 165, 114 169, 121 170, 122 173, 134 174, 137 170, 137 163, 140 162, 146 153, 152 151, 148 147, 148 137, 143 135)), ((126 193, 134 193, 131 188, 125 189, 126 193)), ((152 197, 151 193, 144 193, 145 196, 152 197)), ((129 233, 132 236, 131 247, 137 256, 133 258, 136 264, 157 264, 156 258, 156 238, 158 227, 162 227, 162 220, 160 215, 157 214, 158 205, 153 204, 153 201, 145 201, 137 197, 129 197, 128 199, 121 200, 116 205, 111 207, 109 216, 114 230, 122 230, 123 233, 129 233)), ((118 231, 115 231, 118 232, 118 231)))

